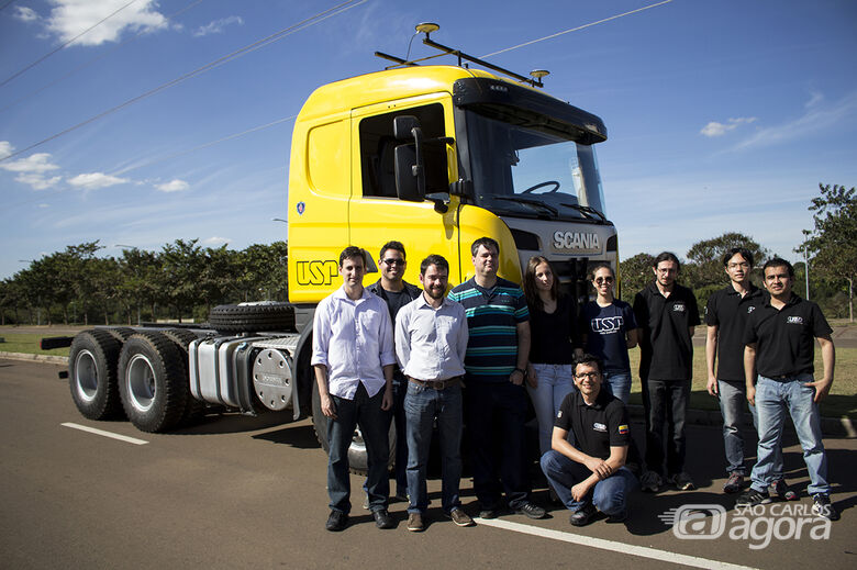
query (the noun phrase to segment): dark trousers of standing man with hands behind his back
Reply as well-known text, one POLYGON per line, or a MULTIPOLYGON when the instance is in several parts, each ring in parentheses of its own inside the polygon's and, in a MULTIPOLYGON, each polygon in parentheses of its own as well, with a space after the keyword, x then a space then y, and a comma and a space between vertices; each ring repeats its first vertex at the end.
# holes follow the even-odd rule
POLYGON ((664 474, 666 448, 667 476, 685 470, 685 420, 690 400, 690 379, 643 382, 643 409, 646 415, 646 467, 664 474), (664 438, 664 427, 667 437, 664 438))

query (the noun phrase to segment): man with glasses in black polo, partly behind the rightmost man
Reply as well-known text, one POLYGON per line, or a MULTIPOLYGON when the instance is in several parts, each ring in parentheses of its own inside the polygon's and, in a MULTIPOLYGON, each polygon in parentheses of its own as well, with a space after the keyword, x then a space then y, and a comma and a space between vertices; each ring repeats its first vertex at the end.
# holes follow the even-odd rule
MULTIPOLYGON (((723 267, 730 284, 712 293, 705 306, 705 361, 709 371, 708 390, 711 395, 717 396, 723 414, 723 444, 728 463, 728 479, 723 485, 723 492, 737 493, 744 487, 747 474, 744 467, 744 436, 741 432, 741 415, 747 400, 744 383, 744 326, 747 314, 763 303, 764 293, 750 281, 753 254, 746 248, 733 247, 726 252, 723 267)), ((756 406, 752 405, 749 410, 755 425, 756 406)), ((782 452, 779 446, 773 461, 771 490, 783 500, 798 499, 798 494, 782 479, 782 452)))

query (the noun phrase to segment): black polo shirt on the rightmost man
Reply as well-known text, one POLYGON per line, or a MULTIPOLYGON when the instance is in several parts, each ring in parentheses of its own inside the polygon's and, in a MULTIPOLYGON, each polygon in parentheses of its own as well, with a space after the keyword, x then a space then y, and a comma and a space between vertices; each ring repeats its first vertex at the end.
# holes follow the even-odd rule
POLYGON ((756 371, 767 378, 815 371, 815 338, 828 336, 819 305, 792 293, 786 306, 776 309, 770 295, 747 315, 744 343, 756 344, 756 371))

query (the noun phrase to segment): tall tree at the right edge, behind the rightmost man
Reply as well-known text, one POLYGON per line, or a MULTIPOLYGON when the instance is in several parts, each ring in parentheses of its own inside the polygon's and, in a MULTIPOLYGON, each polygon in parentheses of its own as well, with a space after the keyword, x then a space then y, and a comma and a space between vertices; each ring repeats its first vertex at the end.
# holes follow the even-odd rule
POLYGON ((813 270, 839 283, 848 284, 848 317, 854 322, 854 280, 857 279, 857 197, 855 189, 819 185, 821 195, 812 199, 810 211, 815 227, 804 232, 804 247, 813 270))

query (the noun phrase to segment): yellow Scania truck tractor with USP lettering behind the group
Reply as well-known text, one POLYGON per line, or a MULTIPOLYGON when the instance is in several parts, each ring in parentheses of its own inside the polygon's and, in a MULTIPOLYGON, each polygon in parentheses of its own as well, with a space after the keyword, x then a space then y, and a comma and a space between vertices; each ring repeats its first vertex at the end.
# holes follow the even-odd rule
MULTIPOLYGON (((434 31, 434 30, 431 30, 434 31)), ((140 429, 175 429, 213 407, 312 416, 326 449, 310 365, 316 304, 341 286, 338 255, 405 245, 407 281, 441 254, 450 283, 472 276, 470 244, 500 244, 499 275, 521 282, 531 256, 548 258, 569 294, 587 294, 596 262, 617 268, 596 159, 598 116, 526 78, 458 49, 423 43, 457 65, 387 54, 385 70, 318 88, 294 123, 288 183, 288 303, 221 305, 193 328, 97 327, 70 343, 68 380, 79 411, 124 413, 140 429)), ((54 346, 56 343, 54 342, 54 346)), ((391 443, 392 445, 392 443, 391 443)), ((359 433, 352 466, 365 467, 359 433)))

